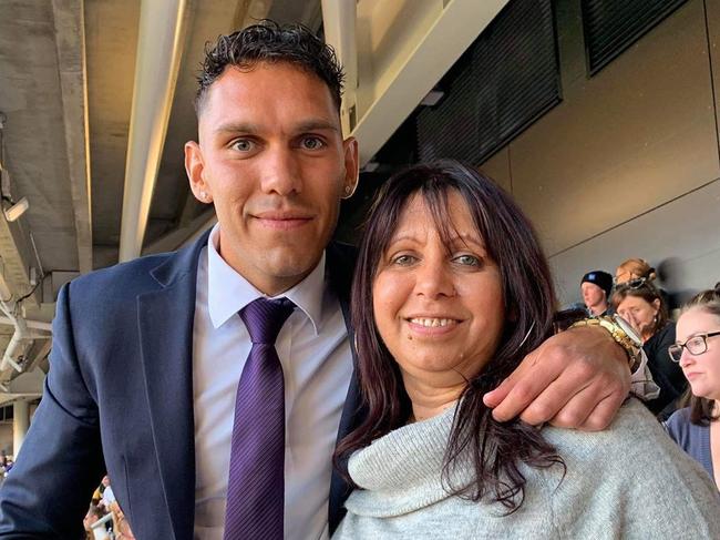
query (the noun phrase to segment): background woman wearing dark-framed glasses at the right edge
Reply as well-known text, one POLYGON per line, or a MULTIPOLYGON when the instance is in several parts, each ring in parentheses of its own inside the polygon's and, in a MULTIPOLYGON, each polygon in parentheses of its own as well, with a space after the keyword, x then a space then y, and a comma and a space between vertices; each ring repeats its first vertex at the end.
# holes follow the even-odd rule
POLYGON ((670 437, 720 486, 720 283, 685 307, 669 347, 690 383, 690 407, 667 421, 670 437))

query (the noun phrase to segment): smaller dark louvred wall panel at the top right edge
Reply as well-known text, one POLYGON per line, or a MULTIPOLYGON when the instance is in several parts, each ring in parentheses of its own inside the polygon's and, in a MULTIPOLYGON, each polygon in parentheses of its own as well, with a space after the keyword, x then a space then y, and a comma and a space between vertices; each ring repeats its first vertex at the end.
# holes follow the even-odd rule
POLYGON ((588 71, 595 74, 687 0, 582 0, 588 71))

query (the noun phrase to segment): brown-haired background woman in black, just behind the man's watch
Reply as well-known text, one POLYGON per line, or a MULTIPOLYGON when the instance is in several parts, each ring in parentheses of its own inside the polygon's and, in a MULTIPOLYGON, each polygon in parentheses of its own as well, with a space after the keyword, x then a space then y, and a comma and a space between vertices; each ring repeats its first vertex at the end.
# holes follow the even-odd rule
POLYGON ((648 368, 660 387, 660 395, 645 405, 665 420, 675 411, 675 401, 687 388, 687 381, 668 355, 668 347, 675 343, 675 323, 668 317, 662 294, 646 278, 634 278, 617 286, 613 307, 642 339, 648 368))

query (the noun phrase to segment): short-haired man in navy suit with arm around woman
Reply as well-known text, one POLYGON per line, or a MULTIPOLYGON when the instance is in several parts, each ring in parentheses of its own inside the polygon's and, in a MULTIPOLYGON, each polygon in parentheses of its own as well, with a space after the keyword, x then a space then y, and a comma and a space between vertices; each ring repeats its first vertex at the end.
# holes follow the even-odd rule
MULTIPOLYGON (((187 248, 63 287, 43 398, 0 491, 0 538, 80 537, 105 470, 137 539, 228 538, 228 468, 243 444, 232 442, 235 398, 254 347, 238 312, 278 296, 295 306, 275 342, 284 497, 257 502, 279 503, 286 538, 337 526, 347 486, 331 456, 361 414, 353 252, 330 242, 358 180, 357 142, 340 128, 341 79, 332 51, 302 28, 266 21, 208 52, 185 164, 218 225, 187 248)), ((624 361, 605 330, 573 330, 486 400, 501 419, 603 428, 628 391, 624 361)))

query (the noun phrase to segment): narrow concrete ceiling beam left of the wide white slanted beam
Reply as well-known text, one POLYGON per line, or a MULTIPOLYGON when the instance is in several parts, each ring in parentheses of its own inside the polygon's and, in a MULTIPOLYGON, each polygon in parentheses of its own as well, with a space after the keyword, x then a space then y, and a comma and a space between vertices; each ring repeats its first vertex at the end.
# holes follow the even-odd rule
POLYGON ((83 0, 52 0, 78 266, 93 268, 88 65, 83 0))

